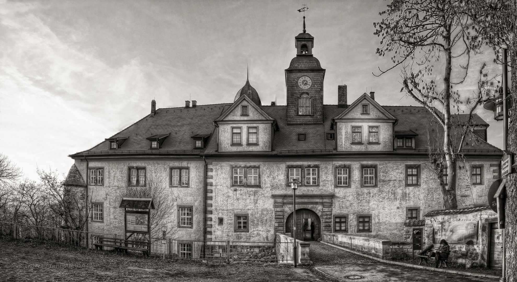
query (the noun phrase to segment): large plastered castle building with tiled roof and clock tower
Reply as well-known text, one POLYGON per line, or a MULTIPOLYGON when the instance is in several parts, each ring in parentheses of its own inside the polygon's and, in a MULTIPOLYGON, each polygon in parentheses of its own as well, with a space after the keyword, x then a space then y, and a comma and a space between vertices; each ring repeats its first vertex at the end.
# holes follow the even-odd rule
MULTIPOLYGON (((404 224, 443 209, 429 168, 443 129, 432 114, 380 105, 374 92, 348 104, 346 85, 338 85, 337 105, 325 105, 325 69, 305 23, 295 48, 287 105, 262 105, 249 80, 233 103, 157 109, 153 100, 147 116, 71 154, 70 175, 84 178, 91 202, 89 231, 122 234, 121 197, 151 182, 173 195, 169 228, 185 240, 272 241, 276 232, 294 236, 296 225, 298 239, 339 232, 403 241, 404 224), (296 220, 292 179, 300 182, 296 220)), ((466 118, 457 116, 455 127, 466 118)), ((467 138, 458 168, 460 208, 485 205, 498 178, 501 151, 486 143, 489 124, 474 121, 477 137, 467 138)))

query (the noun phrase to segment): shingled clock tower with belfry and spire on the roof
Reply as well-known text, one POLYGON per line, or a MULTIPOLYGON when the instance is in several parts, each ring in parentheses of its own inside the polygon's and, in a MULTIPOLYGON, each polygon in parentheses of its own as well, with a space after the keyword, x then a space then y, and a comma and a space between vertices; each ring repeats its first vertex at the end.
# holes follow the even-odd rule
POLYGON ((305 30, 295 36, 296 57, 285 70, 287 124, 323 123, 323 79, 325 69, 312 55, 314 37, 305 30))

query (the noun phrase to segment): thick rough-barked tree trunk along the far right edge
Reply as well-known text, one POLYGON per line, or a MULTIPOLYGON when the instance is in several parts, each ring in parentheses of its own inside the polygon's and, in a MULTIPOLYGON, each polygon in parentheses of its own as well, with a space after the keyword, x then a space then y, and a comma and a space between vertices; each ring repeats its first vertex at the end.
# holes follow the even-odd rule
MULTIPOLYGON (((517 15, 517 1, 512 1, 513 14, 517 15)), ((511 95, 508 116, 508 150, 517 153, 517 27, 514 25, 513 34, 508 46, 509 60, 511 61, 511 95)), ((510 68, 509 68, 510 69, 510 68)), ((508 282, 517 282, 517 173, 512 169, 512 174, 506 177, 506 275, 508 282)))

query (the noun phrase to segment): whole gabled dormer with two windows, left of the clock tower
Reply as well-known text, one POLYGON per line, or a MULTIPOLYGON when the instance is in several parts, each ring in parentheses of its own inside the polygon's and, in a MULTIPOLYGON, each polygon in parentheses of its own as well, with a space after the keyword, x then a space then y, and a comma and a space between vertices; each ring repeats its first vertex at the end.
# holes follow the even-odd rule
POLYGON ((242 94, 218 119, 218 151, 271 151, 277 122, 242 94))

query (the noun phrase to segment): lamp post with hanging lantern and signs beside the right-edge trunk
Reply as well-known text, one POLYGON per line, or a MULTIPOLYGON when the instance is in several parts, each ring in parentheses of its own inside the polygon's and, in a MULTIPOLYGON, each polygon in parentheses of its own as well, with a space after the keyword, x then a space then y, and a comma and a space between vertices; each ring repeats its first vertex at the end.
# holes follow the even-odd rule
MULTIPOLYGON (((502 91, 499 90, 499 95, 486 101, 483 104, 483 107, 485 109, 488 109, 489 111, 494 112, 495 120, 497 120, 497 121, 503 120, 503 151, 505 152, 505 154, 507 154, 507 153, 509 153, 508 152, 508 59, 507 59, 508 58, 508 54, 507 54, 508 49, 507 49, 507 46, 501 46, 501 49, 503 49, 503 57, 502 57, 503 86, 501 87, 502 91)), ((511 161, 511 154, 510 154, 510 156, 508 156, 508 158, 510 158, 510 161, 511 161)), ((509 166, 510 166, 509 169, 510 169, 510 173, 511 173, 511 163, 509 164, 509 166)), ((501 171, 501 176, 503 176, 502 171, 501 171)), ((504 195, 501 193, 501 196, 499 196, 499 197, 504 197, 504 195)), ((499 202, 500 202, 499 197, 497 198, 497 206, 498 206, 497 210, 504 211, 504 206, 503 207, 499 206, 499 202)), ((502 229, 501 233, 503 235, 501 238, 503 241, 503 261, 502 261, 502 265, 501 265, 502 269, 501 269, 501 277, 499 278, 499 282, 505 282, 506 281, 506 275, 505 275, 505 272, 506 272, 505 228, 504 228, 504 222, 501 221, 501 218, 498 218, 498 221, 499 221, 498 225, 502 229)))

